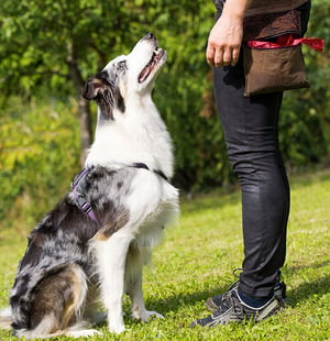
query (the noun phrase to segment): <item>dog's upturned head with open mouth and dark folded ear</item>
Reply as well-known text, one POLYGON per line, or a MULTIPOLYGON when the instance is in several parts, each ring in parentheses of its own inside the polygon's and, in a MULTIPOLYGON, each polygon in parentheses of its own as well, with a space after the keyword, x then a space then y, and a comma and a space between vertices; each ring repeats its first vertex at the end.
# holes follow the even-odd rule
POLYGON ((82 96, 96 100, 103 116, 113 119, 114 109, 124 112, 129 96, 151 92, 165 61, 166 52, 158 47, 156 37, 150 33, 138 42, 129 55, 114 58, 89 79, 82 96))

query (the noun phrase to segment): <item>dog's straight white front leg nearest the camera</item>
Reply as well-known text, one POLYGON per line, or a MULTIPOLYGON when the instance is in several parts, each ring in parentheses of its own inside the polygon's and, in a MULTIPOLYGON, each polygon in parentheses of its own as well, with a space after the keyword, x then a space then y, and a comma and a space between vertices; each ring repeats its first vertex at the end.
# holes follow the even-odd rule
POLYGON ((124 331, 122 300, 124 294, 124 271, 127 254, 133 235, 122 230, 109 239, 97 238, 96 250, 101 297, 108 311, 108 327, 111 332, 124 331))

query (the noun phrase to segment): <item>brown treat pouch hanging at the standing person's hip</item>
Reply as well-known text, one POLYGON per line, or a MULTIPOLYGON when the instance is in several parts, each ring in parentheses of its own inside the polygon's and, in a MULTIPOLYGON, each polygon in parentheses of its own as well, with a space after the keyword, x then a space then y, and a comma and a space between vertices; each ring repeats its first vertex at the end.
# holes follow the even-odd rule
POLYGON ((308 88, 301 45, 277 48, 249 47, 249 41, 272 42, 282 35, 300 35, 298 11, 244 19, 244 96, 308 88))

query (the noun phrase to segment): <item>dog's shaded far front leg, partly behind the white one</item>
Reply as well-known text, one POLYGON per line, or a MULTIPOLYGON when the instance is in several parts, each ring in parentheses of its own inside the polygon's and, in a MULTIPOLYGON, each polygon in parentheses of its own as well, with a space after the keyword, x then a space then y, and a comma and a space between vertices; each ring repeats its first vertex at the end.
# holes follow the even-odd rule
POLYGON ((164 318, 156 311, 145 308, 142 293, 142 270, 145 258, 150 257, 150 251, 141 251, 139 246, 131 245, 127 260, 127 293, 132 301, 132 317, 136 320, 147 322, 154 316, 164 318))

